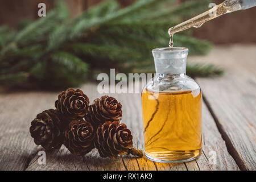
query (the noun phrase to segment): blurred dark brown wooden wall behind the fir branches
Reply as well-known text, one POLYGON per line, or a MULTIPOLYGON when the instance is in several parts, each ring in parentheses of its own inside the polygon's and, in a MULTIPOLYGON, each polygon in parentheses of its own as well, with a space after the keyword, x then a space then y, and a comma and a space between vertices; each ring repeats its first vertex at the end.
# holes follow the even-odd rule
MULTIPOLYGON (((55 0, 0 0, 0 24, 17 26, 21 18, 38 18, 38 3, 46 3, 51 9, 55 0)), ((104 0, 63 0, 69 5, 72 15, 76 16, 81 11, 104 0)), ((135 0, 118 0, 122 6, 127 6, 135 0)), ((192 1, 179 0, 177 2, 192 1)), ((203 1, 203 0, 202 0, 203 1)), ((221 3, 223 0, 214 0, 221 3)), ((208 9, 208 7, 205 7, 208 9)), ((191 17, 188 17, 191 18, 191 17)), ((194 28, 197 38, 207 39, 215 44, 226 43, 256 43, 256 7, 248 10, 237 11, 223 15, 204 24, 201 28, 194 28)))

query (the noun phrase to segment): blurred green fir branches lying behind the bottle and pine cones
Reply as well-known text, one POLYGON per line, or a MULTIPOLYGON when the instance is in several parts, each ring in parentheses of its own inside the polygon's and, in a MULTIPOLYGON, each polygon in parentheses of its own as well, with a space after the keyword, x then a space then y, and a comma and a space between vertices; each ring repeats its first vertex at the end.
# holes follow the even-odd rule
MULTIPOLYGON (((60 89, 79 86, 98 72, 154 72, 151 49, 168 45, 168 28, 206 10, 210 1, 139 0, 121 9, 104 1, 74 19, 58 1, 46 17, 20 22, 18 30, 0 27, 0 84, 60 89)), ((174 36, 175 46, 190 55, 212 45, 192 38, 190 30, 174 36)), ((220 75, 214 65, 188 65, 188 75, 220 75)))

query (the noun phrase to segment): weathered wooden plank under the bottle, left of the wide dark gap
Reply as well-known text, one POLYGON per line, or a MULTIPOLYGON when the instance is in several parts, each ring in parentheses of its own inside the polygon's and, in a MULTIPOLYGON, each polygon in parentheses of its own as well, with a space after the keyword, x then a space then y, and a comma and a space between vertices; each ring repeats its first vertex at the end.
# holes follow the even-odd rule
MULTIPOLYGON (((143 148, 143 129, 142 129, 142 113, 141 100, 139 95, 131 94, 124 97, 126 100, 123 121, 127 122, 127 126, 133 129, 135 140, 137 140, 138 148, 143 148), (129 116, 128 118, 126 118, 129 116)), ((210 115, 207 107, 203 104, 203 154, 196 160, 179 164, 153 163, 146 158, 124 158, 127 169, 129 170, 238 170, 238 166, 233 158, 226 150, 225 142, 221 138, 220 133, 210 115), (209 162, 208 159, 216 152, 216 163, 209 162), (136 165, 138 164, 138 166, 136 165)))

